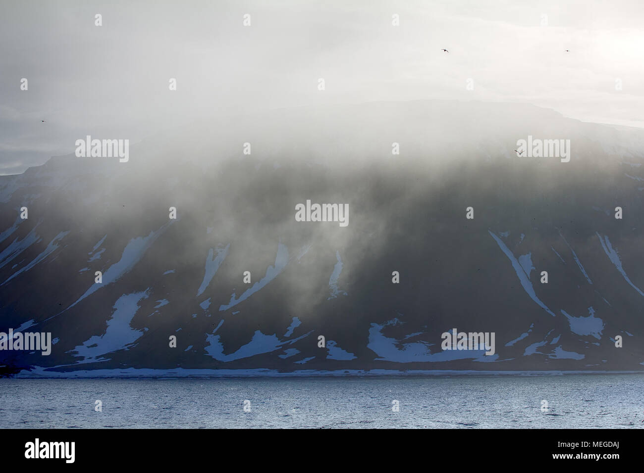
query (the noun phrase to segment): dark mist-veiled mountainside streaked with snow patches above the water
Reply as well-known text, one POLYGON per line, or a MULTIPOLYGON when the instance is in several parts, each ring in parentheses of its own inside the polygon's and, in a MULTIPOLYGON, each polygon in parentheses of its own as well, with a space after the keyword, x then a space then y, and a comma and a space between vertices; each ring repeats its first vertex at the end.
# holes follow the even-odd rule
POLYGON ((447 101, 199 126, 1 179, 0 329, 57 339, 6 373, 643 369, 640 131, 447 101), (528 135, 570 162, 517 157, 528 135), (296 221, 307 199, 348 226, 296 221), (453 328, 495 355, 442 351, 453 328))

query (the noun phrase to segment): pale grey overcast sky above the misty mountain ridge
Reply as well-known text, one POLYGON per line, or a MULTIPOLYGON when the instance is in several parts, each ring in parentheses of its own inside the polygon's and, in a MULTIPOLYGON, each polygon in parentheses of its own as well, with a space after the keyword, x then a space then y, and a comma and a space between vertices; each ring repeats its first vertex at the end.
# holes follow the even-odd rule
POLYGON ((73 153, 86 134, 137 142, 307 104, 529 102, 644 127, 641 0, 23 0, 1 12, 0 174, 73 153))

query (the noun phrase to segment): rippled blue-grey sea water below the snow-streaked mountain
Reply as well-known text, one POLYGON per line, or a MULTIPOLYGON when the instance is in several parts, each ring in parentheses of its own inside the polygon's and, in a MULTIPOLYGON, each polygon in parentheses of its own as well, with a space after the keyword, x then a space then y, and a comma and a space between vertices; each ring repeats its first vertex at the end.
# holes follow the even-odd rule
POLYGON ((641 429, 643 420, 644 375, 0 380, 1 428, 641 429))

